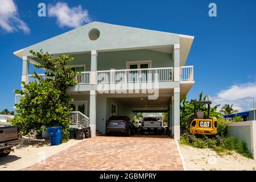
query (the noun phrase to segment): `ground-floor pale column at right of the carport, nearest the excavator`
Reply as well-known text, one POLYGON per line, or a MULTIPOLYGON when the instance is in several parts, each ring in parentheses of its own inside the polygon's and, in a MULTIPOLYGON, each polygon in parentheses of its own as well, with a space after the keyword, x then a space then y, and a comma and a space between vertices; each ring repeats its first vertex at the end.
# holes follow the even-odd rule
POLYGON ((174 88, 174 139, 180 140, 180 88, 174 88))

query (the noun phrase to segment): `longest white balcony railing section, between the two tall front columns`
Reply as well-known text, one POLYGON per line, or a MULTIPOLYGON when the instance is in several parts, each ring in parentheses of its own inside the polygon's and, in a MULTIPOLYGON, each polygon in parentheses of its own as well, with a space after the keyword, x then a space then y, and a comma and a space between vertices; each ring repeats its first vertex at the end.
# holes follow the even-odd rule
POLYGON ((173 68, 113 69, 97 71, 97 84, 173 81, 173 68))

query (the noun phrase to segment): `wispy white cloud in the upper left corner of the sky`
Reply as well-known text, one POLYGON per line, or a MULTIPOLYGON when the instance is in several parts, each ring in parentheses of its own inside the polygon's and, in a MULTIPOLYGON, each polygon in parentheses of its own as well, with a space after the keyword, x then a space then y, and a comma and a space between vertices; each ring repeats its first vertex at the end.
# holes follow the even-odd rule
POLYGON ((6 32, 22 30, 25 34, 29 34, 30 28, 18 15, 18 7, 13 0, 1 0, 0 27, 6 32))

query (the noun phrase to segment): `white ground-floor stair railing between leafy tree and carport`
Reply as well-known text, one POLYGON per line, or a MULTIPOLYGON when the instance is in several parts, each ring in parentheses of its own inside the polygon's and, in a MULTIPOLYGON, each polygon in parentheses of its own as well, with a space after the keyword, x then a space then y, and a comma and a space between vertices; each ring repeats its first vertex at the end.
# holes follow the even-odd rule
POLYGON ((68 118, 72 120, 72 125, 81 125, 89 127, 89 118, 80 111, 72 111, 68 114, 68 118))

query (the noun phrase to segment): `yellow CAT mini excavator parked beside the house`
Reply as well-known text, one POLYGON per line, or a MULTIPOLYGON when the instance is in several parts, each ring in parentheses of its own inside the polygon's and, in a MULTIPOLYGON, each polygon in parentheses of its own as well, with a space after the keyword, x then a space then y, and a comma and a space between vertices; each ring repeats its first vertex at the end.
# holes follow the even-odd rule
POLYGON ((210 118, 210 104, 212 101, 191 101, 194 104, 194 119, 189 127, 189 139, 193 139, 196 134, 199 135, 217 135, 217 118, 210 118), (208 105, 207 115, 197 105, 208 105))

